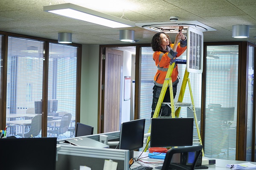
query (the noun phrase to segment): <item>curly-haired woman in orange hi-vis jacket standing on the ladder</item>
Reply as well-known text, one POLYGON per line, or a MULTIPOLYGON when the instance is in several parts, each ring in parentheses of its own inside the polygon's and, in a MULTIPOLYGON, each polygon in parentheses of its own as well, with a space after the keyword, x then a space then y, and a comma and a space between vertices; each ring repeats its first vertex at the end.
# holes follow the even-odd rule
MULTIPOLYGON (((175 37, 175 42, 172 44, 169 35, 164 32, 158 32, 154 35, 151 41, 151 47, 153 49, 153 59, 157 66, 157 73, 154 76, 154 88, 153 88, 153 102, 152 102, 152 112, 151 117, 154 115, 155 108, 157 106, 157 101, 160 96, 160 92, 163 87, 163 82, 166 77, 167 70, 170 65, 171 59, 176 59, 186 50, 186 36, 182 33, 183 26, 179 27, 179 32, 175 37)), ((173 97, 177 93, 177 84, 179 79, 178 76, 178 66, 175 64, 175 67, 172 71, 172 88, 173 88, 173 97)), ((169 88, 166 90, 163 102, 171 102, 169 88)), ((168 105, 162 105, 159 116, 170 116, 171 108, 168 105)))

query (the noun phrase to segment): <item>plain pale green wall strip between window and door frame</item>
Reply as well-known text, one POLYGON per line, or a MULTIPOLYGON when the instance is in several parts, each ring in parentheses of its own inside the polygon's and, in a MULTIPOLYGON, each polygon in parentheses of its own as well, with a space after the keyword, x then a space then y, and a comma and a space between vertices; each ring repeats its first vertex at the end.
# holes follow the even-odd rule
POLYGON ((82 45, 80 122, 98 127, 99 45, 82 45))

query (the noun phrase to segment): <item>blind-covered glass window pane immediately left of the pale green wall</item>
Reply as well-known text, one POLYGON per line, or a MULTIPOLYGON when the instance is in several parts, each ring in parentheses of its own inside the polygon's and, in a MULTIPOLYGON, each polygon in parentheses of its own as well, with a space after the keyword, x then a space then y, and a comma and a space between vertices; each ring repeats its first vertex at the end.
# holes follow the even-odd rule
POLYGON ((47 136, 68 138, 75 131, 77 47, 49 43, 48 70, 47 136))

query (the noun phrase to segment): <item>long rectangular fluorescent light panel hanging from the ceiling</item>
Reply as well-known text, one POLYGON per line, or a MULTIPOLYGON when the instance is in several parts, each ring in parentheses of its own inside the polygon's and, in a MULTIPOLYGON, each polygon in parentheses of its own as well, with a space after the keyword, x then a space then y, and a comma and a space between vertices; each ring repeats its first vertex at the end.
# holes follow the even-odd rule
POLYGON ((44 6, 44 11, 111 28, 135 27, 135 23, 132 21, 77 6, 72 3, 44 6))

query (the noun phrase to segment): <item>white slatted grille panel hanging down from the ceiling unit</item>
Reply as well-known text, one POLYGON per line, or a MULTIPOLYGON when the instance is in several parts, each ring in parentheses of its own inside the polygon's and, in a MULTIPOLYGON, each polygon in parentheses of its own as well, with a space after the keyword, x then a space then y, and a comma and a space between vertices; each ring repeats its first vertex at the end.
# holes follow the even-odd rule
POLYGON ((203 72, 203 32, 189 27, 187 31, 187 71, 189 73, 203 72))

